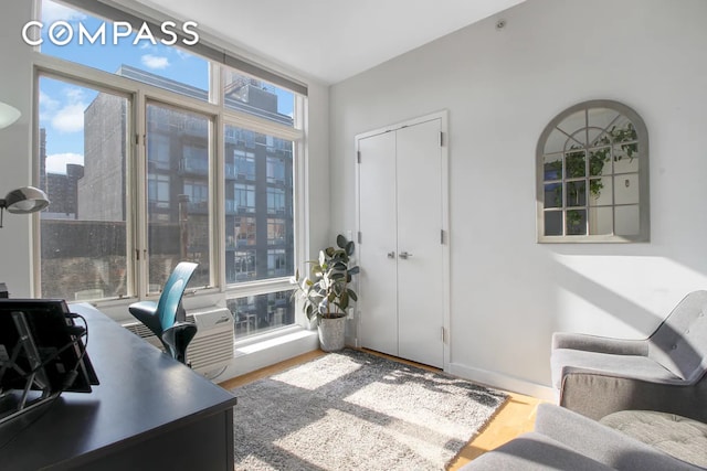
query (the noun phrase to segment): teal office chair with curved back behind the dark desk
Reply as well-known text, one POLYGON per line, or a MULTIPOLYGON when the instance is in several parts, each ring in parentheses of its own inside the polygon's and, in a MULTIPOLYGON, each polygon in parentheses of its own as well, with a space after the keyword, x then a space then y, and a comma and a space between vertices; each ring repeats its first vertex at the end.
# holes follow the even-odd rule
POLYGON ((197 334, 197 325, 187 322, 181 297, 199 265, 181 261, 171 272, 157 302, 139 301, 128 307, 130 314, 143 322, 160 340, 165 350, 186 363, 187 346, 197 334))

